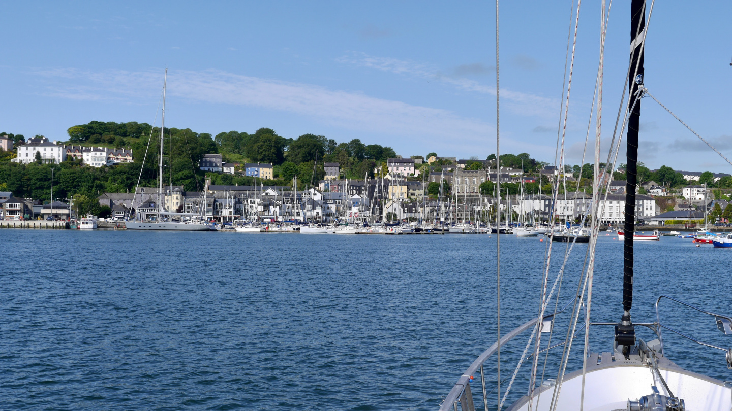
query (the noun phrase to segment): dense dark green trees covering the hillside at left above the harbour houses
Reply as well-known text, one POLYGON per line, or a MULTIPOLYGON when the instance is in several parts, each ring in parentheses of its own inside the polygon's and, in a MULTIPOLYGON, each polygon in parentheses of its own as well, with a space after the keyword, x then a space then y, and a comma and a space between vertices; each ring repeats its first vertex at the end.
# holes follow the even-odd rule
MULTIPOLYGON (((71 198, 79 204, 91 204, 103 192, 133 192, 138 184, 157 186, 157 161, 160 156, 160 127, 150 124, 91 121, 67 130, 67 144, 105 143, 115 147, 132 148, 134 162, 109 167, 85 167, 78 161, 57 165, 29 165, 10 162, 12 155, 0 156, 0 191, 11 191, 18 197, 51 200, 51 170, 53 169, 53 197, 71 198), (152 136, 152 138, 151 138, 152 136), (85 200, 86 199, 86 200, 85 200), (86 203, 84 203, 86 201, 86 203)), ((23 135, 2 133, 23 143, 23 135)), ((42 136, 36 136, 42 137, 42 136)), ((206 176, 212 184, 250 185, 253 178, 223 173, 205 173, 198 170, 203 154, 223 154, 225 159, 236 157, 249 162, 271 162, 275 165, 275 179, 257 181, 265 185, 290 185, 296 176, 299 188, 324 178, 324 162, 340 162, 349 178, 373 176, 373 168, 386 158, 396 157, 392 148, 365 145, 360 140, 337 143, 321 135, 302 135, 286 139, 272 129, 258 129, 253 134, 225 132, 212 137, 191 129, 166 128, 163 137, 164 184, 184 186, 186 191, 203 189, 206 176), (317 159, 317 165, 315 160, 317 159)))

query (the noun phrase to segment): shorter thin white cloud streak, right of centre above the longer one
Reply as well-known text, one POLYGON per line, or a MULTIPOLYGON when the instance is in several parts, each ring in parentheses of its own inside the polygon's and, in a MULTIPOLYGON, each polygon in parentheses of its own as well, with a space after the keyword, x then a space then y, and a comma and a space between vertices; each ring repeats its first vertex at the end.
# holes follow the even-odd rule
MULTIPOLYGON (((496 87, 479 83, 476 80, 459 76, 447 75, 436 67, 429 64, 416 63, 414 61, 392 59, 389 57, 369 56, 366 53, 351 52, 341 56, 336 61, 344 64, 351 64, 359 67, 378 69, 384 72, 393 72, 399 75, 410 75, 417 78, 425 78, 441 83, 449 84, 463 91, 477 92, 481 94, 496 95, 496 87)), ((469 66, 469 65, 468 65, 469 66)), ((460 67, 455 69, 458 72, 460 67)), ((475 69, 476 67, 473 67, 475 69)), ((482 67, 484 69, 490 69, 482 67)), ((501 88, 501 104, 516 114, 522 116, 553 117, 559 102, 547 97, 540 97, 534 94, 512 91, 508 88, 501 88)))

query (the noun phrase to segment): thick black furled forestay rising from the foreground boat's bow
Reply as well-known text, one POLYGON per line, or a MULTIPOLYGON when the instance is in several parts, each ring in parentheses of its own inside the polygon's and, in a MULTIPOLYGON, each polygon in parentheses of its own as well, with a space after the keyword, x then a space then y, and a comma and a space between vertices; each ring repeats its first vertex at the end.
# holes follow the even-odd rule
POLYGON ((615 326, 615 341, 623 346, 624 355, 635 344, 635 327, 630 320, 633 303, 633 233, 635 232, 635 187, 638 185, 638 128, 641 119, 641 99, 636 99, 643 88, 643 40, 646 37, 646 1, 632 0, 630 6, 630 72, 627 133, 627 181, 625 186, 625 238, 623 246, 623 315, 615 326))

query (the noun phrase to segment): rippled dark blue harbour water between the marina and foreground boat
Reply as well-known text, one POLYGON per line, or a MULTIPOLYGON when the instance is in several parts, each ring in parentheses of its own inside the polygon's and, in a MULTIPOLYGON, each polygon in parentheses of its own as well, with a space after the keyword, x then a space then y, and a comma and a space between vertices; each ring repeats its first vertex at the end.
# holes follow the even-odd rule
MULTIPOLYGON (((504 333, 537 315, 546 245, 501 236, 504 333)), ((566 245, 554 247, 559 264, 566 245)), ((593 320, 619 320, 621 252, 603 233, 593 320)), ((633 319, 654 320, 660 294, 732 314, 731 253, 638 243, 633 319)), ((496 338, 496 235, 1 230, 0 255, 4 410, 435 410, 496 338)), ((665 322, 732 344, 712 318, 662 307, 665 322)), ((592 331, 593 349, 611 350, 612 328, 592 331)), ((724 352, 664 336, 679 365, 732 380, 724 352)))

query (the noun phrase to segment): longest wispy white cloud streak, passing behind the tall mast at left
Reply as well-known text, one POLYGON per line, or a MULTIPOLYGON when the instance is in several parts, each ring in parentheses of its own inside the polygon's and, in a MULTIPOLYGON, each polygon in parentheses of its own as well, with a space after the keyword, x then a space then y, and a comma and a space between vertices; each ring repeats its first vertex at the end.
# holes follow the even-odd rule
MULTIPOLYGON (((66 99, 156 101, 163 86, 161 70, 53 69, 36 74, 51 79, 45 94, 66 99)), ((405 137, 409 143, 444 145, 451 151, 460 151, 459 146, 474 150, 475 144, 485 145, 495 133, 492 125, 449 110, 218 70, 169 71, 168 97, 295 113, 345 129, 405 137)))

